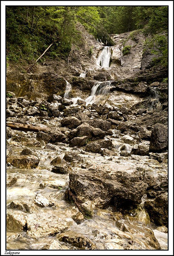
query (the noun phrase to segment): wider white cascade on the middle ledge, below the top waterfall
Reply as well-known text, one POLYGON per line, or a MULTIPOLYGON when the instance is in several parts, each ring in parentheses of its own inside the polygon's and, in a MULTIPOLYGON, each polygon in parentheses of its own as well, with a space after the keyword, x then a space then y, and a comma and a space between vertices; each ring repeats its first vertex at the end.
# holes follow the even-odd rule
POLYGON ((107 95, 110 91, 112 81, 97 82, 91 90, 91 96, 86 101, 86 105, 93 104, 96 101, 96 96, 100 99, 102 96, 107 95))

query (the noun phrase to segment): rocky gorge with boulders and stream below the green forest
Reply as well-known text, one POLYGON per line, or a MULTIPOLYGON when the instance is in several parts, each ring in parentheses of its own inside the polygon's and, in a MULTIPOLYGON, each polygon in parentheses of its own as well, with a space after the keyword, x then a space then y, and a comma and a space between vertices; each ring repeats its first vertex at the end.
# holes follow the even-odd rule
POLYGON ((78 27, 68 61, 7 69, 7 249, 167 250, 167 69, 78 27))

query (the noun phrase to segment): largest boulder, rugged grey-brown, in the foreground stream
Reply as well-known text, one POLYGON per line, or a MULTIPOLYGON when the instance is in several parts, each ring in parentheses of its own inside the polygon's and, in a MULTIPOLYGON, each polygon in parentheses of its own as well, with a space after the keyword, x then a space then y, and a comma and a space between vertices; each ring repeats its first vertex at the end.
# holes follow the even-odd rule
POLYGON ((72 172, 69 186, 77 198, 89 199, 99 208, 109 203, 116 208, 138 204, 148 187, 140 180, 137 170, 118 164, 91 166, 86 172, 72 172))

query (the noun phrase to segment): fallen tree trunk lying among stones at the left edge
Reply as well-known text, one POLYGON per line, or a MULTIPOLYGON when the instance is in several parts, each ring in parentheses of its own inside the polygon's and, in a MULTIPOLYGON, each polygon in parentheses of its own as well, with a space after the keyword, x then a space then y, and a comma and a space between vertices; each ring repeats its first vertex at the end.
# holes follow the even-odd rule
POLYGON ((6 122, 6 126, 10 127, 13 130, 44 131, 44 132, 50 131, 50 128, 46 128, 46 127, 26 125, 26 124, 13 123, 13 122, 6 122))

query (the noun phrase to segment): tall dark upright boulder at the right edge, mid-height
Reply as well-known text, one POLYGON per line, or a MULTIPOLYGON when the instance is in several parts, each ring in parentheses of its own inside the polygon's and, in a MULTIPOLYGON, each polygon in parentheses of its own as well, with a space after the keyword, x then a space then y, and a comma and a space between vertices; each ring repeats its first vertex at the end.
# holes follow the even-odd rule
POLYGON ((153 126, 150 137, 150 152, 162 152, 168 148, 168 129, 162 124, 153 126))

